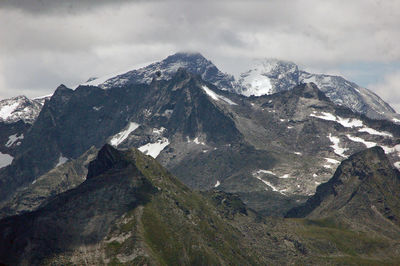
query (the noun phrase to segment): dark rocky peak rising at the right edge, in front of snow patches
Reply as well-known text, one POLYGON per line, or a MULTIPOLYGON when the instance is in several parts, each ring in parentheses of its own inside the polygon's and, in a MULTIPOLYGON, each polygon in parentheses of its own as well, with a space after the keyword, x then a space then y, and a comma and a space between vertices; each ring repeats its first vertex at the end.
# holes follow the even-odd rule
POLYGON ((372 228, 398 230, 400 225, 400 172, 384 150, 374 147, 343 161, 334 176, 317 187, 305 205, 288 217, 337 217, 372 228))

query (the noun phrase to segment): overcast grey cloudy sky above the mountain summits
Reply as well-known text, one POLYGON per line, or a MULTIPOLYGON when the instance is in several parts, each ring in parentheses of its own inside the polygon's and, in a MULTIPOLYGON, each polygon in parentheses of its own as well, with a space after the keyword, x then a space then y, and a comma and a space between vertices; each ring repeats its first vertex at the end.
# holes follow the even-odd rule
POLYGON ((400 0, 0 0, 0 99, 197 51, 224 72, 278 58, 400 112, 400 0))

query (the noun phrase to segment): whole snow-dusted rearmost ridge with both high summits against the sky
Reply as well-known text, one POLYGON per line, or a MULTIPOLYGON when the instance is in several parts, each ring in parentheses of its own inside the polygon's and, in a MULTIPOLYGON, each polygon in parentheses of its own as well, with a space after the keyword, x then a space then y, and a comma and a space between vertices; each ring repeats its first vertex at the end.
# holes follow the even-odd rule
POLYGON ((244 96, 262 96, 290 90, 301 83, 315 83, 335 104, 346 106, 374 119, 400 121, 400 115, 379 96, 343 77, 313 74, 300 70, 292 62, 278 59, 258 60, 254 67, 240 74, 237 80, 221 72, 211 61, 199 53, 176 53, 166 59, 135 70, 100 78, 90 78, 83 85, 103 89, 129 84, 149 84, 154 78, 171 79, 178 68, 200 75, 217 86, 244 96))

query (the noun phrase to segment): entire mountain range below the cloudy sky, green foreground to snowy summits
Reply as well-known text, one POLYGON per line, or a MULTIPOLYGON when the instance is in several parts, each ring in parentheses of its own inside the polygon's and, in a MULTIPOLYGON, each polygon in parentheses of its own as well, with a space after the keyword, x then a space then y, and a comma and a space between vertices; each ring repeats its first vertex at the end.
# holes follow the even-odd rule
POLYGON ((342 77, 178 53, 1 104, 0 262, 398 262, 399 116, 342 77))

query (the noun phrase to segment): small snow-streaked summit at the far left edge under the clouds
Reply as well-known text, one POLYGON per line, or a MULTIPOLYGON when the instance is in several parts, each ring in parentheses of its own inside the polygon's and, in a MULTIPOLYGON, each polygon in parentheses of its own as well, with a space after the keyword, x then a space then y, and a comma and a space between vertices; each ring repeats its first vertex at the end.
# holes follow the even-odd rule
POLYGON ((43 107, 45 98, 28 99, 26 96, 17 96, 0 101, 0 122, 15 123, 23 120, 33 123, 43 107))

